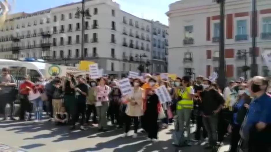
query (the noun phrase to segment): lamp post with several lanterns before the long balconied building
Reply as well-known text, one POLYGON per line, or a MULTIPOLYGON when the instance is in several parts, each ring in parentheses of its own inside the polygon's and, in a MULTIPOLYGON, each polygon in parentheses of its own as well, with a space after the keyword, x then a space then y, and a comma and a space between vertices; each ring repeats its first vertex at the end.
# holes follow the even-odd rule
POLYGON ((81 59, 84 60, 84 33, 85 33, 85 26, 84 26, 84 17, 86 17, 86 19, 90 19, 91 15, 89 14, 89 9, 85 10, 85 0, 82 0, 82 9, 80 9, 79 7, 77 7, 77 11, 75 13, 75 18, 80 18, 80 14, 82 14, 82 32, 81 32, 81 59))

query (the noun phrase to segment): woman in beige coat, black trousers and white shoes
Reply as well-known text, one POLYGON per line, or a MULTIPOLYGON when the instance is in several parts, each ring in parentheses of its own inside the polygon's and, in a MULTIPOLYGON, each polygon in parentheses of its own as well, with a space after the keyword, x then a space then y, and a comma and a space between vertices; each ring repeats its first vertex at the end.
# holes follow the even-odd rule
POLYGON ((134 134, 133 138, 137 137, 137 130, 138 130, 138 117, 143 116, 143 97, 144 97, 144 90, 139 87, 140 79, 133 80, 133 93, 130 95, 128 99, 126 113, 126 120, 125 120, 125 133, 123 137, 127 136, 128 131, 130 130, 131 120, 133 119, 134 122, 134 134))

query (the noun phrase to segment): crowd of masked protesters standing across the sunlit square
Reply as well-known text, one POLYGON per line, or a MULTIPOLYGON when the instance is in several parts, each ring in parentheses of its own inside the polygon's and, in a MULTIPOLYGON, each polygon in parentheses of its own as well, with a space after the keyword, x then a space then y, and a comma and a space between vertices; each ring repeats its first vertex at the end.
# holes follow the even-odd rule
POLYGON ((67 74, 39 82, 31 82, 26 75, 16 87, 15 78, 3 68, 0 113, 6 120, 10 105, 10 119, 15 120, 13 104, 19 101, 22 121, 40 122, 46 112, 56 125, 70 125, 74 130, 79 123, 80 129, 86 130, 86 125, 97 124, 99 132, 106 132, 110 121, 116 128, 124 129, 123 138, 133 124, 133 138, 141 127, 152 142, 158 141, 158 122, 162 128, 174 122, 172 138, 177 147, 200 145, 206 140, 205 149, 216 152, 223 145, 224 135, 231 134, 229 152, 270 151, 271 95, 266 78, 230 81, 223 92, 216 82, 203 76, 195 81, 190 76, 161 80, 146 74, 144 80, 129 80, 133 91, 125 96, 117 79, 91 79, 88 74, 67 74), (171 101, 159 101, 155 90, 162 85, 171 101), (194 138, 191 124, 196 124, 194 138))

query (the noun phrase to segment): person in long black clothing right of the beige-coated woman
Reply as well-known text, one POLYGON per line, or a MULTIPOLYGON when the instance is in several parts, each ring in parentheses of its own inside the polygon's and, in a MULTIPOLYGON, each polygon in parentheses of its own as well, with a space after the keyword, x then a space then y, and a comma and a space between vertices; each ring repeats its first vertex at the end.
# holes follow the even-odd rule
POLYGON ((156 80, 150 78, 149 80, 151 88, 148 89, 147 94, 147 104, 146 104, 146 111, 144 112, 144 118, 147 120, 147 132, 148 132, 148 140, 157 142, 158 141, 158 113, 160 111, 159 106, 159 99, 158 96, 155 94, 154 90, 156 89, 156 80))

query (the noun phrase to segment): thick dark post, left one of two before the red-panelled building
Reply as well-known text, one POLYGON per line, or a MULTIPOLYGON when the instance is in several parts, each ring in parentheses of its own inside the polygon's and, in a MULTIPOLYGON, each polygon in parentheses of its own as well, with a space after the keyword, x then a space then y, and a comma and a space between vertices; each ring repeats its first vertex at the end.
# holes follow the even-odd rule
POLYGON ((220 4, 220 32, 219 32, 219 71, 218 84, 221 90, 225 88, 225 53, 224 53, 224 9, 225 0, 217 0, 220 4))

